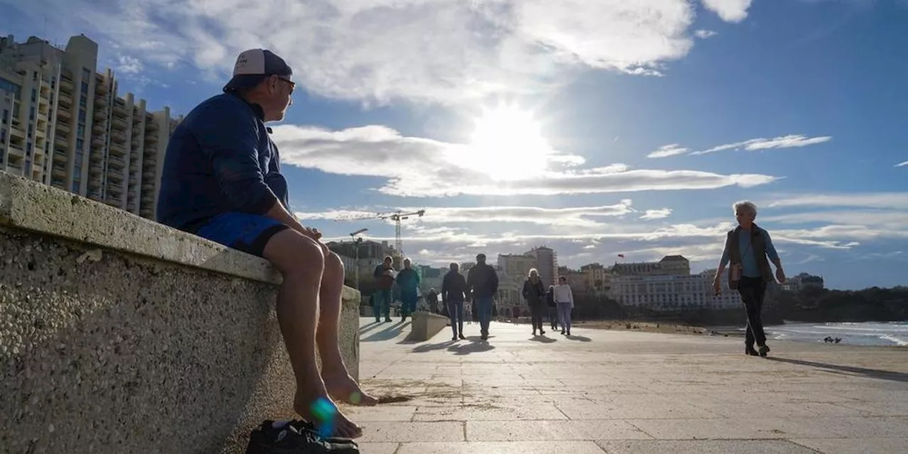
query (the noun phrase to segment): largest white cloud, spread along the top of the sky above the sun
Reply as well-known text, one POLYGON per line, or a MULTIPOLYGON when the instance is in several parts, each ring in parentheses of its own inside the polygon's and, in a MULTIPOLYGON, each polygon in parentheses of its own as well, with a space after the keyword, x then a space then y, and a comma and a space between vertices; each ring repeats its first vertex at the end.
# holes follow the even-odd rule
MULTIPOLYGON (((739 22, 749 1, 704 0, 739 22)), ((459 103, 545 90, 582 68, 659 74, 694 41, 693 0, 44 0, 0 4, 106 36, 163 68, 226 77, 242 49, 285 56, 313 94, 459 103)))

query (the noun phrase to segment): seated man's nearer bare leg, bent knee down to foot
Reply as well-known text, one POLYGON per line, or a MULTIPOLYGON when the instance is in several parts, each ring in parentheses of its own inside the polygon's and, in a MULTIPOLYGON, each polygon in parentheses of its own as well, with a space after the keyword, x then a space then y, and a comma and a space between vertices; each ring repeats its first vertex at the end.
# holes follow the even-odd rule
MULTIPOLYGON (((302 419, 319 424, 322 420, 317 416, 320 412, 315 405, 320 401, 328 401, 333 405, 315 359, 316 317, 319 312, 318 295, 324 255, 316 242, 291 230, 284 230, 271 237, 263 255, 283 276, 278 292, 277 315, 296 378, 293 410, 302 419)), ((362 429, 347 419, 340 410, 333 423, 335 432, 341 437, 355 438, 362 435, 362 429)))

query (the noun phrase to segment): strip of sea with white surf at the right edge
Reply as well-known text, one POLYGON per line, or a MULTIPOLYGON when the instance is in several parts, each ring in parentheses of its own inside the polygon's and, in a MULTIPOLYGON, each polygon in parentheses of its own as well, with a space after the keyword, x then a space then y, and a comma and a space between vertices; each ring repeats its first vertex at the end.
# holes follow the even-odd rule
POLYGON ((766 337, 784 341, 820 342, 825 337, 839 338, 848 345, 885 345, 908 347, 908 321, 864 321, 841 323, 786 322, 766 326, 766 337))

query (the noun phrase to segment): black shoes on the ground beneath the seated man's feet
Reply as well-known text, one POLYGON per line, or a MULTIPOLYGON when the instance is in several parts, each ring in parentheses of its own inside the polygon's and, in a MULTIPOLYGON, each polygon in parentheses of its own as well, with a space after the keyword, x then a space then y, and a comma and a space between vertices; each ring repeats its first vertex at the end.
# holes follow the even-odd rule
POLYGON ((294 422, 265 420, 252 430, 246 454, 360 454, 360 447, 350 439, 324 439, 306 429, 311 425, 294 422))

